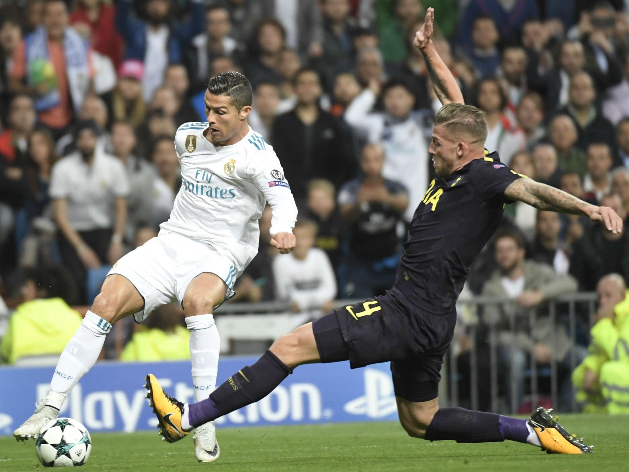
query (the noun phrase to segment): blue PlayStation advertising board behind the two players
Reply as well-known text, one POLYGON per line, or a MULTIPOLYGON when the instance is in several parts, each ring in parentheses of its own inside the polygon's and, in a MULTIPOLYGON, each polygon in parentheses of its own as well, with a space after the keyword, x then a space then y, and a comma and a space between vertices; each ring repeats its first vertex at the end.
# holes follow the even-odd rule
MULTIPOLYGON (((257 357, 221 357, 218 382, 257 357)), ((72 390, 61 416, 74 418, 91 432, 151 430, 157 419, 143 387, 155 374, 165 390, 182 402, 194 402, 189 361, 98 362, 72 390)), ((0 368, 0 435, 13 429, 35 409, 34 400, 48 392, 55 369, 0 368)), ((216 420, 218 427, 316 424, 397 419, 389 364, 350 369, 347 362, 308 364, 277 386, 266 398, 216 420)), ((157 434, 155 441, 157 441, 157 434)))

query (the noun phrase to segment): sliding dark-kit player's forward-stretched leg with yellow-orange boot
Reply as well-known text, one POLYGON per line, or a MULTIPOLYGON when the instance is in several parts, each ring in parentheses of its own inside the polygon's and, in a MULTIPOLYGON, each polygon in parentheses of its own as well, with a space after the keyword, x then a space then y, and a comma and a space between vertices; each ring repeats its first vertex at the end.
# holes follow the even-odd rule
POLYGON ((184 405, 167 395, 152 374, 146 378, 146 387, 164 440, 175 442, 194 427, 262 400, 301 364, 347 359, 347 347, 338 332, 336 315, 329 313, 276 340, 255 364, 233 374, 203 402, 184 405), (318 349, 313 324, 320 346, 327 346, 325 352, 318 349), (328 326, 330 330, 327 330, 328 326))

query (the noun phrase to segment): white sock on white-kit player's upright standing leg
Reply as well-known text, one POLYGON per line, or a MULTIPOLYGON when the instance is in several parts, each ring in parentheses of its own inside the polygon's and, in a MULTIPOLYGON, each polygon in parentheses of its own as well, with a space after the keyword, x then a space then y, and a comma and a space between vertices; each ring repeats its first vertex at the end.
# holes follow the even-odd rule
POLYGON ((221 339, 211 314, 187 317, 186 326, 190 330, 194 401, 201 402, 216 388, 221 339))

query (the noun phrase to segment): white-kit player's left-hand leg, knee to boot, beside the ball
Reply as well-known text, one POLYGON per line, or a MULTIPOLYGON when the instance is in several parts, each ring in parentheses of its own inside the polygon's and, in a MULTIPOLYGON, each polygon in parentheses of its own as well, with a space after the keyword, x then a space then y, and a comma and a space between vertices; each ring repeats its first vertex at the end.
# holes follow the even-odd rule
POLYGON ((47 397, 43 398, 35 413, 13 432, 15 439, 26 441, 35 438, 43 425, 58 417, 72 388, 96 363, 111 324, 125 315, 139 312, 143 305, 140 293, 123 276, 113 275, 105 279, 91 310, 59 357, 47 397))

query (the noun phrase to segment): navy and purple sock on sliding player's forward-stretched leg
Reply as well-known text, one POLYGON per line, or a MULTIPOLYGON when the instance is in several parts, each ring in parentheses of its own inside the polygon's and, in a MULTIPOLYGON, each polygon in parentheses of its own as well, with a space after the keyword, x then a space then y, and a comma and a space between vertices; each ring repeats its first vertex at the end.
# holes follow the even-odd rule
POLYGON ((190 425, 200 426, 238 408, 262 400, 290 373, 291 369, 267 350, 255 364, 240 369, 218 386, 209 398, 189 405, 190 425))

